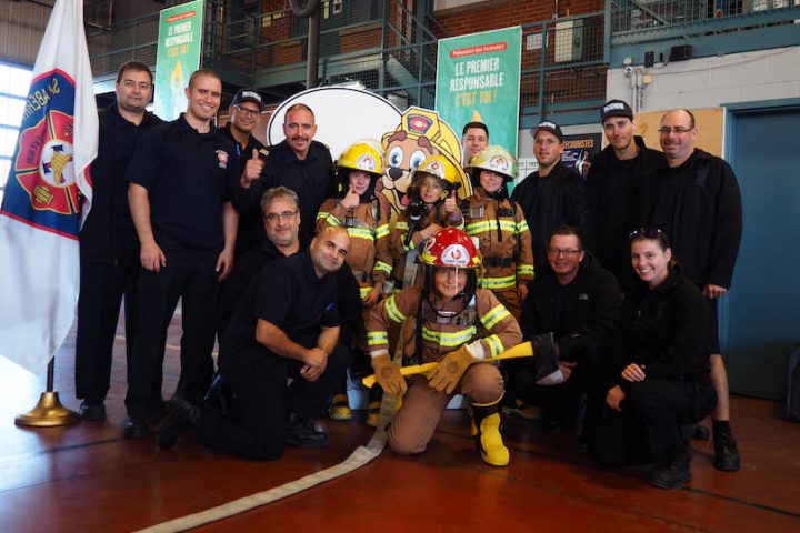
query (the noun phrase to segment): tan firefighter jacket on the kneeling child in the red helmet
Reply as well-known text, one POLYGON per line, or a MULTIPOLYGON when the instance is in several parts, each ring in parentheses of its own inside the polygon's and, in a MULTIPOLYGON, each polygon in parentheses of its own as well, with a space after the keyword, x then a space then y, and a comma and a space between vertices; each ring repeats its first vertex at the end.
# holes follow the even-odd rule
MULTIPOLYGON (((494 358, 522 342, 517 320, 498 302, 491 291, 478 289, 466 309, 460 299, 432 300, 432 305, 422 301, 422 288, 412 286, 372 308, 367 321, 370 353, 377 355, 389 350, 388 330, 392 323, 400 324, 407 319, 419 320, 418 316, 422 321, 422 345, 419 353, 421 362, 439 361, 447 353, 474 341, 480 342, 486 359, 494 358)), ((417 359, 416 340, 403 341, 403 358, 417 359)))

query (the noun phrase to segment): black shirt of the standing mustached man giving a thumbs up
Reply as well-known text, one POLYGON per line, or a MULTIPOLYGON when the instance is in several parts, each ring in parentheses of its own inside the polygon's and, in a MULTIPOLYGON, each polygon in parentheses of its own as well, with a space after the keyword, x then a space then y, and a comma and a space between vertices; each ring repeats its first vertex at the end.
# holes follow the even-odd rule
POLYGON ((297 192, 300 200, 302 231, 314 234, 317 212, 334 193, 333 161, 328 147, 311 141, 306 159, 298 159, 287 141, 269 148, 261 177, 249 189, 237 189, 233 205, 241 212, 259 212, 267 189, 283 185, 297 192))

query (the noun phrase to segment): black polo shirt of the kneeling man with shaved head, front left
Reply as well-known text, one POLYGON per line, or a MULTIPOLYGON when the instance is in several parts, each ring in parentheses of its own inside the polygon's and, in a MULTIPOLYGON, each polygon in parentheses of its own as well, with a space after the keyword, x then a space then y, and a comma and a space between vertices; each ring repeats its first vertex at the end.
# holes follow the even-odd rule
POLYGON ((220 368, 270 353, 256 340, 259 319, 304 348, 316 346, 321 328, 339 325, 336 276, 317 278, 309 250, 268 263, 233 310, 222 335, 220 368))

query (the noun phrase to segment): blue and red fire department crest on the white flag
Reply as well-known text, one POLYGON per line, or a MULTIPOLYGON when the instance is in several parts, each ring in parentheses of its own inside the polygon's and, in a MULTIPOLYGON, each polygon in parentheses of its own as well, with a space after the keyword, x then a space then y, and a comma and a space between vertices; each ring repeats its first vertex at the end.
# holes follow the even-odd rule
POLYGON ((61 71, 32 81, 2 210, 70 235, 80 224, 72 163, 74 82, 61 71))

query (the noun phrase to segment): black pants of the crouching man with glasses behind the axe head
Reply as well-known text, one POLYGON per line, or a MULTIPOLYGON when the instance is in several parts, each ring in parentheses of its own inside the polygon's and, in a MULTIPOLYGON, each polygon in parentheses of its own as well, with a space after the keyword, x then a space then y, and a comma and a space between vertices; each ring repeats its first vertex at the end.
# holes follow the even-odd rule
POLYGON ((613 373, 607 362, 604 346, 600 342, 588 343, 586 349, 572 358, 578 364, 572 375, 559 385, 538 385, 532 360, 509 361, 507 365, 509 398, 518 398, 526 403, 541 405, 557 415, 562 409, 586 393, 587 410, 583 419, 583 434, 589 438, 597 430, 606 393, 612 385, 613 373))

